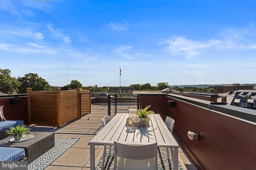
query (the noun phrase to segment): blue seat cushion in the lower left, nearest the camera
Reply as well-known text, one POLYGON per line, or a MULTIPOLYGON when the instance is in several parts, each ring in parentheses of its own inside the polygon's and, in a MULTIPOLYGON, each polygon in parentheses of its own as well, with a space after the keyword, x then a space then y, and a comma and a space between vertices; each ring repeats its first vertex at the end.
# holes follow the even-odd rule
POLYGON ((24 148, 0 147, 0 161, 16 161, 25 157, 24 148))

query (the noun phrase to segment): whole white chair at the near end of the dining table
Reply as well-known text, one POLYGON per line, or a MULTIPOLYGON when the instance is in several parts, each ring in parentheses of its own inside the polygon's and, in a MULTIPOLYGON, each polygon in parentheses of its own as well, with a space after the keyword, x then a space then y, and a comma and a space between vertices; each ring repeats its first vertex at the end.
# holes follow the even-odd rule
POLYGON ((114 170, 157 170, 157 143, 128 145, 114 142, 114 170), (117 167, 117 156, 119 156, 117 167))

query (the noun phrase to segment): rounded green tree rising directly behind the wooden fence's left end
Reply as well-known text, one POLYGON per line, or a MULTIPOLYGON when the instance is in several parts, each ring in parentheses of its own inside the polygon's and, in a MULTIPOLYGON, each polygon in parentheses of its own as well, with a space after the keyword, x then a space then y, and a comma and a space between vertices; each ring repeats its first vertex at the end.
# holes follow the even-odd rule
POLYGON ((18 88, 20 93, 27 93, 26 88, 29 87, 32 88, 32 91, 51 90, 49 83, 34 73, 25 74, 24 77, 18 77, 17 80, 21 82, 21 86, 18 88))

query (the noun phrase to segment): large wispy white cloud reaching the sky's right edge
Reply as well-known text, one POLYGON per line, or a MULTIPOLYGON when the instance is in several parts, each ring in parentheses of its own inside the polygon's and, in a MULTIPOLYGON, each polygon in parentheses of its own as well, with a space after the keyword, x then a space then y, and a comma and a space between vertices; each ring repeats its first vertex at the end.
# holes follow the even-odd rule
POLYGON ((183 55, 186 58, 194 57, 208 51, 222 51, 234 49, 236 51, 255 50, 256 29, 253 25, 244 29, 224 29, 219 33, 219 39, 198 41, 186 39, 183 36, 173 36, 170 39, 162 39, 158 45, 171 55, 183 55))

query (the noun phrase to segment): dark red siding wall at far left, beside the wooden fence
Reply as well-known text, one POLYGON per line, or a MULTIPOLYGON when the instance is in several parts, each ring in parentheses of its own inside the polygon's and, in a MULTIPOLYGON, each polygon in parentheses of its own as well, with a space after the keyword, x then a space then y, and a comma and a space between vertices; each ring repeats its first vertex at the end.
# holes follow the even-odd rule
POLYGON ((23 120, 28 124, 28 101, 27 97, 0 98, 0 106, 3 107, 4 117, 7 120, 23 120), (10 100, 19 99, 19 104, 10 105, 10 100))

